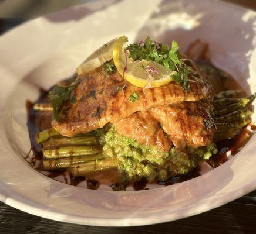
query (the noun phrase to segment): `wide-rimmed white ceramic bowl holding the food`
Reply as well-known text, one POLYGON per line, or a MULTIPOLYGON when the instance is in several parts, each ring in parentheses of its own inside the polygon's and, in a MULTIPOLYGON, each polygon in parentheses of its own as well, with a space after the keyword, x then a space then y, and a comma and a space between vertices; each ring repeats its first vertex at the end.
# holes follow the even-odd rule
MULTIPOLYGON (((110 39, 151 36, 210 44, 211 61, 248 92, 256 91, 256 13, 210 0, 97 1, 25 23, 0 37, 0 199, 58 221, 99 226, 167 222, 218 207, 256 188, 256 136, 232 159, 200 177, 144 191, 87 190, 52 180, 29 167, 26 99, 73 74, 110 39)), ((255 121, 255 116, 253 117, 255 121)))

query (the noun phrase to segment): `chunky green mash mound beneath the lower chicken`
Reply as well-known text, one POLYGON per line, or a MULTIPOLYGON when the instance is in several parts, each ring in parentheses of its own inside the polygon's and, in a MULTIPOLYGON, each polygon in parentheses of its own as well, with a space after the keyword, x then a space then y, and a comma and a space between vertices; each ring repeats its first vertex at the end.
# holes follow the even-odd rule
POLYGON ((118 135, 112 126, 102 136, 103 153, 107 157, 117 157, 119 171, 130 181, 147 178, 149 182, 166 181, 171 176, 184 175, 198 166, 198 161, 207 160, 217 153, 214 143, 206 147, 184 150, 172 147, 162 152, 153 146, 142 146, 136 140, 118 135))

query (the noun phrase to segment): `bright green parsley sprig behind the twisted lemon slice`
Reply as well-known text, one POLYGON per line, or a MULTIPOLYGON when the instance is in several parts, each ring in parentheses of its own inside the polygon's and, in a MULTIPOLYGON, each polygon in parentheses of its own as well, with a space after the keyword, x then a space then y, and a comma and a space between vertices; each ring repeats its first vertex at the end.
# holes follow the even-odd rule
POLYGON ((167 44, 153 42, 150 37, 147 37, 144 42, 139 44, 134 43, 127 46, 129 56, 136 60, 155 61, 170 70, 177 71, 171 75, 174 81, 181 84, 184 90, 190 88, 188 82, 188 74, 190 73, 186 64, 181 60, 179 46, 176 41, 171 42, 171 48, 167 44))

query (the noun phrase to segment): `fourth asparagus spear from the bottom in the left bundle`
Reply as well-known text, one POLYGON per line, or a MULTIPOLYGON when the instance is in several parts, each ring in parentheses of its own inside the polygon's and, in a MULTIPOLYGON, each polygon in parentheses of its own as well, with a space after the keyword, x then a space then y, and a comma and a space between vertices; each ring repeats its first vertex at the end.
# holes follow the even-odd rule
POLYGON ((80 136, 80 137, 51 137, 43 142, 43 149, 58 148, 62 146, 79 146, 96 144, 97 139, 95 136, 80 136))

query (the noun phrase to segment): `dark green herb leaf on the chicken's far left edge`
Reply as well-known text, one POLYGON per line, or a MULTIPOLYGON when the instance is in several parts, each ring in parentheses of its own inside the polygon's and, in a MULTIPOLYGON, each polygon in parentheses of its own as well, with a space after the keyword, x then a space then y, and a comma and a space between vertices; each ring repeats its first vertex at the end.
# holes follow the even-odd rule
POLYGON ((60 107, 62 106, 62 103, 69 97, 69 94, 75 90, 76 85, 77 84, 70 86, 55 85, 53 90, 49 92, 49 102, 53 107, 53 118, 55 118, 58 123, 60 107))

